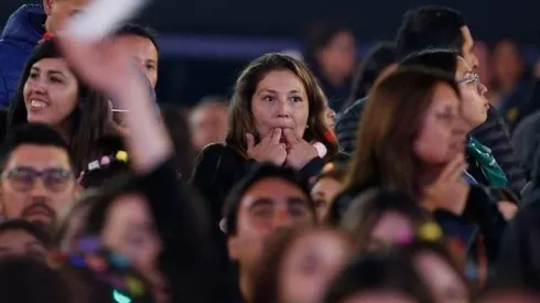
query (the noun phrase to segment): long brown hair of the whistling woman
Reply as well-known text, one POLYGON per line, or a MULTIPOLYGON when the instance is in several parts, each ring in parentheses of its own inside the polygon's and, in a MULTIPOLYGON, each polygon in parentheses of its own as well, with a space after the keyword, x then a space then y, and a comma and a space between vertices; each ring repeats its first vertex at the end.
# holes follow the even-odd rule
POLYGON ((227 145, 230 145, 241 155, 246 156, 246 133, 256 133, 251 97, 259 82, 272 71, 290 71, 303 83, 310 108, 307 116, 309 128, 304 132, 304 140, 315 140, 323 143, 328 150, 325 158, 332 159, 338 151, 338 144, 325 136, 328 132, 328 128, 324 122, 326 97, 323 90, 305 64, 278 53, 266 54, 252 61, 237 79, 229 107, 227 145))

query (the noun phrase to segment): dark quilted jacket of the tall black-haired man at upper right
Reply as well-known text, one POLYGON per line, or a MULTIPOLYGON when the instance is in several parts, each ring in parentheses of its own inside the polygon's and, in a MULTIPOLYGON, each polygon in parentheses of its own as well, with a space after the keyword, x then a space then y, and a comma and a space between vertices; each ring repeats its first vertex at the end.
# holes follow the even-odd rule
MULTIPOLYGON (((355 150, 356 131, 366 102, 367 97, 361 98, 337 117, 337 139, 347 153, 353 153, 355 150)), ((497 110, 490 107, 486 122, 474 129, 471 134, 492 150, 508 177, 509 187, 512 192, 520 193, 527 184, 527 173, 514 151, 505 122, 497 110)))

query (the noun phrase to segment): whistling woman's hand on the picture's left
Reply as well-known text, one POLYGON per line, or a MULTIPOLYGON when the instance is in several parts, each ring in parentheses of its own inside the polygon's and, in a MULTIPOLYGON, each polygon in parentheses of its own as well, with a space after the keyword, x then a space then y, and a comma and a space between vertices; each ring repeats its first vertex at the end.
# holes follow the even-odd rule
POLYGON ((285 144, 280 143, 281 129, 276 128, 256 145, 251 133, 246 134, 247 152, 250 159, 257 162, 271 162, 278 166, 283 165, 287 159, 285 144))

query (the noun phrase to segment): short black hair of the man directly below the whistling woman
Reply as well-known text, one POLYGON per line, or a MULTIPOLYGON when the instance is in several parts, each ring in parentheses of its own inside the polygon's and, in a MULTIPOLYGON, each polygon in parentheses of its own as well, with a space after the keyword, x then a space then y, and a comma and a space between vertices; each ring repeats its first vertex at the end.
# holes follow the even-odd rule
POLYGON ((300 188, 310 201, 310 210, 312 212, 313 219, 316 217, 315 205, 311 203, 310 186, 307 181, 302 178, 301 175, 290 167, 276 166, 269 163, 257 164, 252 171, 250 171, 240 182, 238 182, 227 195, 224 206, 224 221, 222 225, 223 231, 227 235, 236 234, 236 224, 238 219, 238 210, 240 209, 240 202, 244 198, 246 192, 261 180, 277 177, 284 182, 291 183, 300 188))

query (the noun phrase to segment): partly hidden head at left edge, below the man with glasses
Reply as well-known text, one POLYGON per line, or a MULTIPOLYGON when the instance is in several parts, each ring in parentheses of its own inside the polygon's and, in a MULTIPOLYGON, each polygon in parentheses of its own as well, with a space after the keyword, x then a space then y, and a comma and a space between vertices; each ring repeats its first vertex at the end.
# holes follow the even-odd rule
POLYGON ((0 224, 0 257, 22 255, 45 260, 51 249, 51 237, 25 220, 7 220, 0 224))

